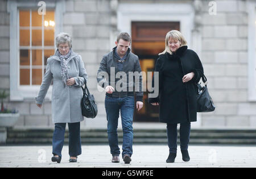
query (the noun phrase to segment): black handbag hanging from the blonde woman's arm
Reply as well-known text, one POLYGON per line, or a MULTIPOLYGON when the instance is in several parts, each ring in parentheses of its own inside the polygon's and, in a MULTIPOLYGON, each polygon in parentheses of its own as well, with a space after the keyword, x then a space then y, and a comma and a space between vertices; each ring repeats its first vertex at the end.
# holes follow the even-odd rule
POLYGON ((214 103, 207 88, 207 78, 202 77, 205 86, 197 85, 197 112, 212 112, 215 110, 214 103))

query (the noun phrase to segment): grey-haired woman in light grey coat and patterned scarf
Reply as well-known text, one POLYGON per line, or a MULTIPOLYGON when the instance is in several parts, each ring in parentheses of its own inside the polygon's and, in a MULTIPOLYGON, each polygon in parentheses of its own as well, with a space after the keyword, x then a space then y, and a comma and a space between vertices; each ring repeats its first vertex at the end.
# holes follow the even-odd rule
POLYGON ((55 124, 52 139, 52 161, 61 161, 66 123, 69 130, 69 161, 76 162, 81 155, 80 122, 81 86, 86 84, 88 75, 80 55, 72 51, 71 36, 60 33, 56 37, 56 53, 47 59, 46 74, 36 97, 36 105, 42 107, 44 97, 53 81, 52 122, 55 124))

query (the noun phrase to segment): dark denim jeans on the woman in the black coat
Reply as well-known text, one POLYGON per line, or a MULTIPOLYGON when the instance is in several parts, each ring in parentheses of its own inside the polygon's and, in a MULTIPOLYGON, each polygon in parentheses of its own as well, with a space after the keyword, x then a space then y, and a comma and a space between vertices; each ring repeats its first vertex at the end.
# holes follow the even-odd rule
MULTIPOLYGON (((191 123, 180 124, 180 149, 187 150, 191 130, 191 123)), ((170 153, 177 152, 177 124, 167 124, 167 137, 170 153)))

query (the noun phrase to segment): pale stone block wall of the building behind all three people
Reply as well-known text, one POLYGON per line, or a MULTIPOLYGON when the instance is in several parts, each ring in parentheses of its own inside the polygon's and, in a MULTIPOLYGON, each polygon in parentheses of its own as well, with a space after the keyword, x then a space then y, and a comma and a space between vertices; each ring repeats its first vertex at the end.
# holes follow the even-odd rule
MULTIPOLYGON (((82 56, 89 74, 88 86, 98 103, 96 119, 86 119, 82 127, 106 127, 105 93, 97 90, 97 69, 105 53, 114 47, 116 30, 113 3, 110 0, 66 0, 63 31, 73 36, 73 49, 82 56)), ((131 1, 129 1, 131 3, 131 1)), ((156 3, 140 0, 133 3, 156 3)), ((182 3, 193 1, 157 1, 182 3)), ((221 0, 217 2, 217 15, 209 15, 209 1, 201 1, 202 49, 200 59, 208 88, 217 106, 213 113, 201 115, 203 127, 255 127, 256 103, 247 99, 247 13, 246 1, 221 0)), ((154 15, 154 13, 152 13, 154 15)), ((0 1, 0 89, 10 89, 10 17, 7 0, 0 1)), ((6 101, 20 113, 18 127, 53 127, 51 102, 42 109, 34 99, 22 102, 6 101)))

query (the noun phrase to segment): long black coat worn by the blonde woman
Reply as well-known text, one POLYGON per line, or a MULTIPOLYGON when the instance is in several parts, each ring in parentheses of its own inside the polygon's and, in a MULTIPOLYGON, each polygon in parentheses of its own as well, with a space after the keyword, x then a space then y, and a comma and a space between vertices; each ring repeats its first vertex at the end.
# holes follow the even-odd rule
POLYGON ((196 121, 196 83, 200 81, 204 69, 196 52, 187 48, 180 47, 172 55, 167 52, 160 55, 156 61, 159 96, 148 98, 148 102, 160 102, 160 122, 173 124, 196 121), (191 72, 194 72, 195 76, 191 81, 184 83, 183 76, 191 72))

